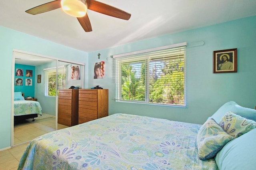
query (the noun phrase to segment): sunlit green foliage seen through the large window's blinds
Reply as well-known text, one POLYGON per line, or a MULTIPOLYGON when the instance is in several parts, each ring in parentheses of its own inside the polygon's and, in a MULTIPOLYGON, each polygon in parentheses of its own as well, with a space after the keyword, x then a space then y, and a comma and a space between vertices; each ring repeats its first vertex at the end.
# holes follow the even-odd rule
POLYGON ((122 63, 121 91, 122 100, 184 105, 184 58, 122 63))

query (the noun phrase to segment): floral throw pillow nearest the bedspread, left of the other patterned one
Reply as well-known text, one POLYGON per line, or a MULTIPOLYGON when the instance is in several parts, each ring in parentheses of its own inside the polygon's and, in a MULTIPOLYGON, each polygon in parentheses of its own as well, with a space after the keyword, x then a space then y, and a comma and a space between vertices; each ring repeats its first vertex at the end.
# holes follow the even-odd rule
POLYGON ((197 135, 199 158, 206 160, 216 156, 222 147, 232 139, 233 137, 228 135, 214 119, 207 120, 197 135))

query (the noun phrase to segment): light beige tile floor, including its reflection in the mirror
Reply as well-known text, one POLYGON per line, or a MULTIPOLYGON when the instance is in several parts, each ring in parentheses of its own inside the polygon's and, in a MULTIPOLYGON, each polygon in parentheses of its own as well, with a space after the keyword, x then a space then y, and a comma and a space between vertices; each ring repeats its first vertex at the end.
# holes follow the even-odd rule
MULTIPOLYGON (((58 124, 58 129, 67 126, 58 124)), ((42 134, 55 130, 55 117, 32 121, 26 119, 14 125, 14 145, 32 140, 42 134)), ((0 151, 0 170, 17 170, 20 158, 28 146, 28 142, 0 151)))

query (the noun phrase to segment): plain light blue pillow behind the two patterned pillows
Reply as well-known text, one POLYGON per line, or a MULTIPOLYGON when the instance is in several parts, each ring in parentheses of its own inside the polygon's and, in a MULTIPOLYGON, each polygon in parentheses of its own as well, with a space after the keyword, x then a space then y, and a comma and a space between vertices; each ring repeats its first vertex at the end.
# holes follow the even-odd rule
POLYGON ((210 118, 213 118, 216 122, 219 122, 227 112, 233 112, 247 119, 256 121, 256 110, 238 105, 234 101, 229 101, 222 105, 218 111, 216 111, 210 118))

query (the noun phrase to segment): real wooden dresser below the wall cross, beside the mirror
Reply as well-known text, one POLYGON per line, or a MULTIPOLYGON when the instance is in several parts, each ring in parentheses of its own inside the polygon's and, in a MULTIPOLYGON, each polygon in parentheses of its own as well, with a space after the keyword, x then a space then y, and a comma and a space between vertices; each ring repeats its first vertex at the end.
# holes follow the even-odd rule
POLYGON ((108 116, 108 89, 79 89, 78 124, 108 116))

